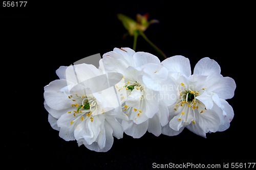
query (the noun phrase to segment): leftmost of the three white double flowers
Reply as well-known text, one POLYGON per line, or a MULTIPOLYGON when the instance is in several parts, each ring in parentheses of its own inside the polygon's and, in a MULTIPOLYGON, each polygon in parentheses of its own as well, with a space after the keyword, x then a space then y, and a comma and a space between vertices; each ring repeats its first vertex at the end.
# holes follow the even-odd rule
POLYGON ((44 88, 44 104, 52 128, 67 141, 77 140, 79 146, 84 144, 97 152, 110 150, 113 136, 123 136, 116 118, 127 118, 115 88, 122 75, 103 75, 89 64, 61 66, 56 74, 59 80, 44 88))

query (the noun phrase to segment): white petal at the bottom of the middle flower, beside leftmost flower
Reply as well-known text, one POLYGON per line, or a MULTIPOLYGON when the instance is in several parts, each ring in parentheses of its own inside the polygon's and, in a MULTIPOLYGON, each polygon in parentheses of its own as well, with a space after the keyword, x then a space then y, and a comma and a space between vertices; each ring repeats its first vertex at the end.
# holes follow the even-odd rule
POLYGON ((142 124, 136 125, 133 122, 126 122, 125 120, 123 120, 122 126, 125 129, 124 130, 125 134, 132 136, 133 138, 140 138, 147 131, 148 121, 142 124))

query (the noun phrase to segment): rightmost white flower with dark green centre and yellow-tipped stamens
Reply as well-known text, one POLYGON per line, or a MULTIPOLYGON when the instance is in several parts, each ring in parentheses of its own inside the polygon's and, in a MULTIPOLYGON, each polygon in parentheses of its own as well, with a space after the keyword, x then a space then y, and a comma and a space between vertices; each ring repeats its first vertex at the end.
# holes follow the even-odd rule
POLYGON ((173 136, 187 128, 206 137, 208 132, 229 128, 234 113, 226 100, 233 97, 236 83, 220 74, 215 60, 202 58, 193 75, 189 60, 183 56, 167 58, 162 64, 179 89, 178 100, 169 107, 170 121, 163 127, 163 134, 173 136))

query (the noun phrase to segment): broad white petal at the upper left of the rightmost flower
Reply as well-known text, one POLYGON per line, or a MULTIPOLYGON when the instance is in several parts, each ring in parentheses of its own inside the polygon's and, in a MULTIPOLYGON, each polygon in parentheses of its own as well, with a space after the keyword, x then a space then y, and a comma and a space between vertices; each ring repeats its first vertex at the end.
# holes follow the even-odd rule
POLYGON ((177 55, 166 58, 161 63, 169 72, 181 73, 187 77, 191 75, 191 68, 188 58, 177 55))

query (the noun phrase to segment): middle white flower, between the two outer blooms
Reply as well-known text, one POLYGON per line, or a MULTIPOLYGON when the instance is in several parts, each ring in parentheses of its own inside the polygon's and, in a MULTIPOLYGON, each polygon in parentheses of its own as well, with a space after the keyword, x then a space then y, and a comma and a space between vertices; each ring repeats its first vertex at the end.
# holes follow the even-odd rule
POLYGON ((114 48, 103 55, 100 67, 106 72, 123 74, 124 84, 118 88, 127 92, 123 112, 129 117, 128 121, 122 120, 124 132, 134 138, 140 138, 146 131, 159 136, 162 126, 168 124, 167 106, 177 98, 175 84, 160 60, 150 53, 114 48))

